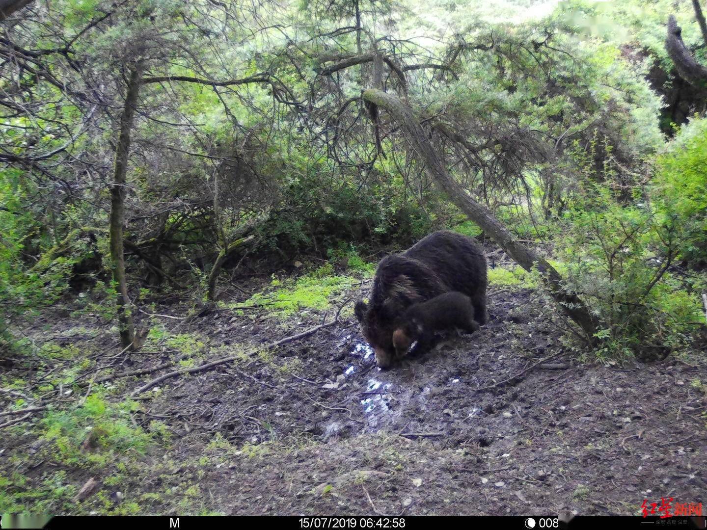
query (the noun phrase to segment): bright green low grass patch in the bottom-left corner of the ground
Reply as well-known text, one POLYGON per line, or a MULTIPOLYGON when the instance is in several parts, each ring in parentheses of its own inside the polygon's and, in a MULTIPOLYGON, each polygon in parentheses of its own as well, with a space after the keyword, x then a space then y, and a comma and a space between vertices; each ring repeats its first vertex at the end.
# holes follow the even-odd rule
MULTIPOLYGON (((135 502, 116 503, 110 499, 112 491, 128 490, 127 483, 148 473, 148 450, 171 435, 167 425, 157 421, 148 429, 135 425, 130 416, 137 407, 132 401, 113 404, 100 394, 91 394, 81 406, 47 412, 33 429, 31 446, 35 453, 30 462, 45 461, 59 470, 40 477, 18 472, 0 474, 0 513, 149 512, 135 502), (105 476, 101 485, 105 489, 77 503, 74 495, 88 476, 105 476)), ((8 429, 9 435, 23 432, 28 434, 21 425, 8 429)), ((18 453, 9 457, 11 464, 23 469, 28 462, 25 445, 16 449, 18 453)))

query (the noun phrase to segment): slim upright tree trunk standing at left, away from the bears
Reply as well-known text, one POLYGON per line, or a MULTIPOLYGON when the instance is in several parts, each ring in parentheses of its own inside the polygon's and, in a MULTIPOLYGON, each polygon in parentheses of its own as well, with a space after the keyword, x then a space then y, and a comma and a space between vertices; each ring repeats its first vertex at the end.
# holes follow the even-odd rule
POLYGON ((120 343, 123 348, 134 350, 135 326, 133 324, 127 278, 125 277, 125 257, 123 247, 123 225, 125 221, 125 182, 128 155, 130 153, 130 132, 132 130, 135 106, 140 93, 140 83, 144 64, 139 61, 130 71, 127 95, 123 112, 120 116, 118 145, 115 148, 115 167, 113 182, 110 185, 110 259, 112 261, 113 280, 118 288, 118 323, 120 343))

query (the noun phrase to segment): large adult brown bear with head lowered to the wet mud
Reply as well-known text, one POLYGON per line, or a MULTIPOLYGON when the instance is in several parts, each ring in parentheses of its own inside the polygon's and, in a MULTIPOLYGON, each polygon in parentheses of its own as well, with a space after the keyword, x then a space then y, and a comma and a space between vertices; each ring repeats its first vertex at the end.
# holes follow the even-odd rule
POLYGON ((415 303, 459 291, 471 298, 477 322, 485 324, 486 283, 486 257, 479 244, 450 230, 433 232, 402 254, 383 258, 375 271, 370 302, 359 300, 355 307, 378 366, 389 367, 395 358, 395 325, 415 303))

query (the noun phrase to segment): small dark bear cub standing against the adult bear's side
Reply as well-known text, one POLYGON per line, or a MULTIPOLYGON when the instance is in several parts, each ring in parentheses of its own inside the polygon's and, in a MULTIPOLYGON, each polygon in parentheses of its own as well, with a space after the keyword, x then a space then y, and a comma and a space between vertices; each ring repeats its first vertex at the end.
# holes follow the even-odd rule
POLYGON ((450 291, 427 302, 407 308, 393 332, 393 346, 398 359, 403 358, 417 341, 416 353, 428 351, 440 331, 460 329, 474 333, 479 322, 474 319, 472 300, 459 291, 450 291))

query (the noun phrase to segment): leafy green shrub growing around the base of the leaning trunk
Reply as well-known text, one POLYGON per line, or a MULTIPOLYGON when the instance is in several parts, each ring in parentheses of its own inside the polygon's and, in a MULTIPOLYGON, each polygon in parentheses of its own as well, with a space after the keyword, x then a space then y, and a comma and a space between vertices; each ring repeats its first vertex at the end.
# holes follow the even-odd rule
POLYGON ((624 206, 594 185, 566 212, 560 256, 568 287, 600 319, 600 358, 664 355, 689 343, 701 319, 699 285, 670 272, 677 230, 647 208, 624 206), (686 290, 689 289, 689 290, 686 290))

